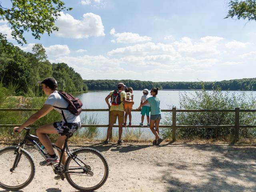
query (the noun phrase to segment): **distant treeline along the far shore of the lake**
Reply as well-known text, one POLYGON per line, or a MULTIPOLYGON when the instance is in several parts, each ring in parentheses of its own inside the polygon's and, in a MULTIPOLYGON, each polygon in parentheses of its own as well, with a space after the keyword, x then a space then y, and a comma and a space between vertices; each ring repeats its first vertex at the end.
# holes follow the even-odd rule
POLYGON ((224 80, 218 82, 152 82, 139 80, 84 80, 88 90, 114 90, 119 82, 131 86, 134 90, 159 87, 160 89, 202 89, 211 90, 220 86, 222 90, 256 90, 256 78, 224 80))

